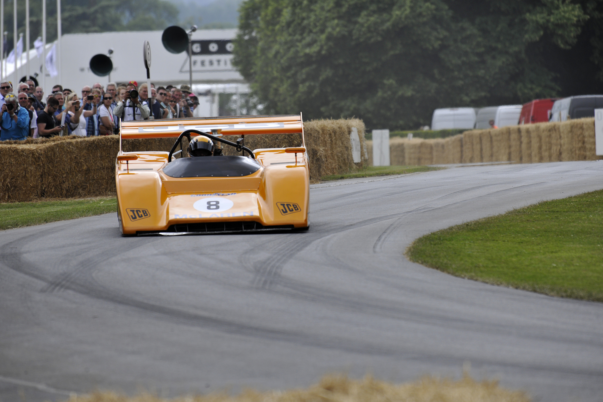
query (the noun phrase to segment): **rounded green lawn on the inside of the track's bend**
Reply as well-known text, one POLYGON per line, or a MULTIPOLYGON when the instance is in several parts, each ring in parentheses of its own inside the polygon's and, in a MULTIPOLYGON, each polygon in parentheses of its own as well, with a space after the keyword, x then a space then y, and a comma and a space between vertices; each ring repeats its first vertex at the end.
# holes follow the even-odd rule
POLYGON ((463 278, 603 301, 603 190, 420 237, 414 262, 463 278))

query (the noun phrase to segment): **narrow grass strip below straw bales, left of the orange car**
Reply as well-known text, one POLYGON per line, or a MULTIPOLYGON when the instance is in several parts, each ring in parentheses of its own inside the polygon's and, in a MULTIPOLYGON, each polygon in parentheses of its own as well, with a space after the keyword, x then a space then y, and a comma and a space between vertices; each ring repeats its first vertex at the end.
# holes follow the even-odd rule
POLYGON ((0 204, 0 230, 115 212, 115 197, 0 204))

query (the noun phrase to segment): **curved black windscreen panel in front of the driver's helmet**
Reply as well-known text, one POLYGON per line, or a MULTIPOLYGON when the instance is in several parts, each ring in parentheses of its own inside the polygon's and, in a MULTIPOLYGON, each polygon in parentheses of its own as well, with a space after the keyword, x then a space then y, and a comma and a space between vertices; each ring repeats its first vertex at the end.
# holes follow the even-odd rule
POLYGON ((256 160, 245 156, 198 156, 172 160, 163 173, 169 177, 240 177, 259 168, 256 160))

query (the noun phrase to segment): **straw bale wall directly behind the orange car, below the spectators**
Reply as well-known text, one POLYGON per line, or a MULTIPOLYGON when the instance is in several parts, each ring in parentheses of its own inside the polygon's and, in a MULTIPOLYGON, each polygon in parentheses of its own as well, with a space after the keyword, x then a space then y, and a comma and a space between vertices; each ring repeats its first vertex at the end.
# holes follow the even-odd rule
MULTIPOLYGON (((364 123, 359 119, 310 121, 304 124, 311 179, 365 166, 368 155, 364 123), (362 162, 352 159, 350 130, 358 129, 362 162)), ((185 149, 188 143, 185 140, 185 149)), ((251 149, 299 146, 301 135, 248 136, 251 149)), ((124 140, 124 151, 169 151, 173 138, 124 140)), ((224 149, 232 148, 230 146, 224 149)), ((74 198, 115 193, 118 136, 53 137, 0 142, 0 202, 39 198, 74 198)))

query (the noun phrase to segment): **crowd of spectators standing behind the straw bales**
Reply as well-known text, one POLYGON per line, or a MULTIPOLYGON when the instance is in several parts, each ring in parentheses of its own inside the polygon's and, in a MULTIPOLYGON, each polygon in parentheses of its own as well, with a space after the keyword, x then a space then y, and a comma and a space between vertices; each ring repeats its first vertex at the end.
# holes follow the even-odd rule
POLYGON ((0 140, 25 140, 28 137, 106 136, 119 132, 119 123, 130 120, 200 117, 195 113, 197 96, 188 85, 155 87, 151 98, 147 83, 96 83, 84 86, 81 96, 60 85, 44 99, 34 81, 0 83, 2 124, 0 140))

